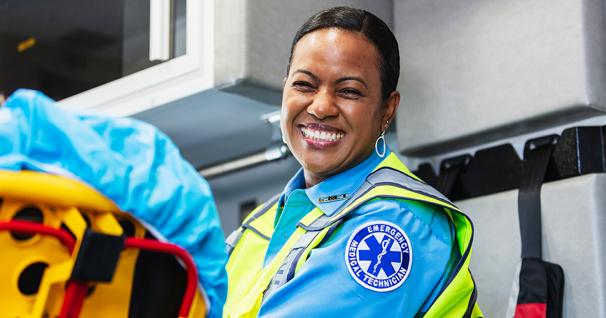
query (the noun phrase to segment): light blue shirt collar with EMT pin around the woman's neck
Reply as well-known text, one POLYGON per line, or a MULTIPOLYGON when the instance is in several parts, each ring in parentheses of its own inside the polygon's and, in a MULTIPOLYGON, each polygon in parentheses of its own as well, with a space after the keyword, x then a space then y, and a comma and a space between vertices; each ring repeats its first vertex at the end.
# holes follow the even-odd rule
MULTIPOLYGON (((389 153, 390 150, 387 148, 385 155, 389 153)), ((355 167, 328 177, 328 179, 308 189, 305 189, 305 177, 303 168, 301 168, 284 188, 280 203, 284 204, 293 191, 304 189, 311 202, 324 214, 331 216, 341 205, 347 202, 348 197, 352 196, 362 186, 368 174, 375 170, 384 158, 379 157, 373 151, 365 161, 355 167)))

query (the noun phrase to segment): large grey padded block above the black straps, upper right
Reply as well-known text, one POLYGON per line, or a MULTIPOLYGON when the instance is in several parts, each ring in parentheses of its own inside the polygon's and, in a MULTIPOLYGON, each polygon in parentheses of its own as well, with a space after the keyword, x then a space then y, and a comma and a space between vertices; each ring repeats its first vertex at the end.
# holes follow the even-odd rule
POLYGON ((604 0, 395 1, 399 150, 430 156, 606 111, 604 0))

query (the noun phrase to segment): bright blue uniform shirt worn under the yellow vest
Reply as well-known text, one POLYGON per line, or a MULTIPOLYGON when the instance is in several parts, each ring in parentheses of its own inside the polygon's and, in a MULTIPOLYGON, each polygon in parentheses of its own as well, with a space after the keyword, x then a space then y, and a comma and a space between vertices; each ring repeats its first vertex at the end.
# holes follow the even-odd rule
MULTIPOLYGON (((389 153, 389 151, 387 152, 389 153)), ((350 170, 305 189, 303 171, 288 182, 264 259, 276 256, 297 222, 315 207, 330 216, 347 200, 319 203, 325 196, 351 195, 383 160, 373 152, 350 170)), ((321 247, 315 248, 297 274, 261 305, 259 317, 414 317, 433 302, 458 259, 451 258, 454 227, 441 208, 424 202, 375 200, 350 214, 321 247), (357 282, 347 267, 347 243, 368 222, 397 225, 410 240, 408 276, 391 291, 375 291, 357 282)))

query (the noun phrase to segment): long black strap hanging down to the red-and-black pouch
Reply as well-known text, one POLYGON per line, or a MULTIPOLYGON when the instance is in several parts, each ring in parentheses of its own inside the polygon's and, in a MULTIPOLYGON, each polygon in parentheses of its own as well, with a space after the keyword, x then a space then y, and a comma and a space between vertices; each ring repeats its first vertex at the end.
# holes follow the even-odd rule
POLYGON ((542 259, 541 247, 541 185, 558 136, 530 140, 524 150, 524 176, 518 194, 522 258, 542 259))

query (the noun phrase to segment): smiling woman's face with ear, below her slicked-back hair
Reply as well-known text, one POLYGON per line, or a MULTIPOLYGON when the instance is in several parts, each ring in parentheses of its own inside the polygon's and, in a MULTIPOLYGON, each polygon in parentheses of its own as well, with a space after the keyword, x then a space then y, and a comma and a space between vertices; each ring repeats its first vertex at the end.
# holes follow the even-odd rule
POLYGON ((280 127, 311 187, 366 159, 391 121, 399 93, 381 96, 379 53, 338 28, 308 33, 284 80, 280 127))

